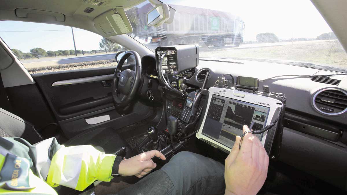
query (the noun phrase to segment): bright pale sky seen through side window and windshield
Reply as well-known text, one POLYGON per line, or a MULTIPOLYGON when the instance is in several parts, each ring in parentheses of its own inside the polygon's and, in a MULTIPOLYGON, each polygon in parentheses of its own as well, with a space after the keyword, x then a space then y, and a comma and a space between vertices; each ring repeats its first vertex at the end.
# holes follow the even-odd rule
MULTIPOLYGON (((245 22, 245 41, 255 41, 258 33, 270 32, 279 39, 315 38, 330 32, 330 27, 310 0, 162 0, 169 5, 184 5, 230 12, 245 22), (213 2, 213 3, 212 3, 213 2)), ((102 37, 74 28, 76 49, 100 49, 102 37)), ((71 27, 16 21, 0 22, 0 37, 12 49, 29 52, 74 49, 71 27), (34 32, 11 32, 34 31, 34 32)))

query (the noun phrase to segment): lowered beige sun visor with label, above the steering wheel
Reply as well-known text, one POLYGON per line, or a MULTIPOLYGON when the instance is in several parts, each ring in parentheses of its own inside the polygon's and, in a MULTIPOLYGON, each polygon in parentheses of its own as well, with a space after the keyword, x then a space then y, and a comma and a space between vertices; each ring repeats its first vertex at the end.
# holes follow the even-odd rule
POLYGON ((114 36, 133 32, 123 8, 107 11, 94 18, 94 26, 101 36, 114 36))

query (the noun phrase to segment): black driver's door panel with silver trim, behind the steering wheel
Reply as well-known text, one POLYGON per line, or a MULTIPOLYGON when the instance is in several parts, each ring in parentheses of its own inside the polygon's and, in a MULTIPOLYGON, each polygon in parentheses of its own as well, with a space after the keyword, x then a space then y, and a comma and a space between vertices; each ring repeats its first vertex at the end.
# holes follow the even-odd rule
MULTIPOLYGON (((122 69, 129 68, 125 66, 122 69)), ((149 117, 153 110, 134 101, 133 112, 121 116, 112 99, 115 67, 92 68, 33 74, 64 134, 71 138, 99 125, 121 128, 149 117), (107 120, 88 124, 86 119, 107 120), (98 118, 96 118, 98 119, 98 118)))

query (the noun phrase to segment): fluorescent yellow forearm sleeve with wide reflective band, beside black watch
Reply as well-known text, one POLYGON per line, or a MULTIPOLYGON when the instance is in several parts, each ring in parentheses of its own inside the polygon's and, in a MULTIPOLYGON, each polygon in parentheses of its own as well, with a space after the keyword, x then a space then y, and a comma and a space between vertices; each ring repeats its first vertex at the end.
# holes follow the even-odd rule
POLYGON ((91 145, 62 146, 53 155, 46 182, 82 191, 95 180, 110 181, 115 158, 91 145))

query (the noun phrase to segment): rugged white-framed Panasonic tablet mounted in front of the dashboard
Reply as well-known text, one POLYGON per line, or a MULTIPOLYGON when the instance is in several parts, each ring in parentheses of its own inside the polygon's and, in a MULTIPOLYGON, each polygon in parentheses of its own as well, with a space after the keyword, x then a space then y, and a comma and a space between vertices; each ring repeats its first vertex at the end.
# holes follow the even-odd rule
MULTIPOLYGON (((240 91, 235 88, 211 87, 208 105, 202 125, 196 137, 225 152, 231 151, 236 136, 242 136, 243 125, 253 130, 262 130, 281 117, 285 100, 262 92, 240 91)), ((254 134, 271 153, 274 138, 279 128, 277 122, 269 131, 254 134)))

